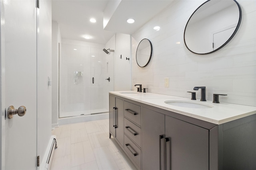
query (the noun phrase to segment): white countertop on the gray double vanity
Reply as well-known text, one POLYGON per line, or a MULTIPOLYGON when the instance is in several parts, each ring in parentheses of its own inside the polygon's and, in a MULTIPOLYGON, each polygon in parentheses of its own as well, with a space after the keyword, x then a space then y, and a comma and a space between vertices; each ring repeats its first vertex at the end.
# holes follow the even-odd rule
POLYGON ((177 96, 168 96, 163 94, 142 93, 136 91, 120 91, 109 92, 116 96, 121 96, 136 102, 141 102, 161 109, 173 111, 189 117, 194 117, 217 125, 233 121, 242 117, 256 114, 256 107, 245 106, 229 103, 212 103, 212 101, 202 102, 200 100, 190 100, 190 98, 182 98, 177 96), (132 93, 129 93, 132 92, 132 93), (211 106, 211 108, 188 108, 180 106, 172 106, 164 103, 167 100, 182 100, 187 102, 198 102, 204 105, 211 106))

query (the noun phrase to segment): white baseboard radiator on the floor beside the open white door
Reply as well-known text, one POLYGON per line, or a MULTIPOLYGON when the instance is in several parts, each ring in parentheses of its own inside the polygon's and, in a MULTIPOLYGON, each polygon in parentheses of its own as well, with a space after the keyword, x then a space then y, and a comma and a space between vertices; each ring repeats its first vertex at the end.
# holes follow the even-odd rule
POLYGON ((44 155, 44 159, 42 160, 42 166, 40 166, 40 170, 50 170, 55 149, 57 149, 56 136, 52 135, 46 150, 46 153, 48 153, 48 155, 44 155))

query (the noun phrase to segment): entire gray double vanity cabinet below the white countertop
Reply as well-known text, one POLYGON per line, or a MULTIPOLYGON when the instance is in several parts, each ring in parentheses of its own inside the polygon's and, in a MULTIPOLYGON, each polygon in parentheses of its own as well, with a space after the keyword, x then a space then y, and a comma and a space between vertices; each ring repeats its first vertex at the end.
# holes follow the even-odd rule
POLYGON ((256 114, 214 124, 111 94, 110 137, 137 169, 256 170, 256 114))

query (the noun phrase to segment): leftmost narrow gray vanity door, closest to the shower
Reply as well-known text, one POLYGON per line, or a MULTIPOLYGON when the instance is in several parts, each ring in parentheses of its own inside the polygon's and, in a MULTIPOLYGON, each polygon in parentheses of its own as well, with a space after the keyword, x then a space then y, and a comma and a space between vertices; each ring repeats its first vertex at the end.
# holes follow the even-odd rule
POLYGON ((116 129, 114 127, 114 107, 116 107, 116 98, 109 96, 109 138, 111 135, 116 137, 116 129))

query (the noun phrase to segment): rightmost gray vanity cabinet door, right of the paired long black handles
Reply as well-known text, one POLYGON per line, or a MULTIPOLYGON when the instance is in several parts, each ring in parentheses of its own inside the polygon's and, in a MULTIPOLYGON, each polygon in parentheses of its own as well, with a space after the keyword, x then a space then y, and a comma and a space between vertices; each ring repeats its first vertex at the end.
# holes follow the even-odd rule
POLYGON ((165 134, 169 139, 166 142, 167 169, 209 169, 208 129, 166 116, 165 134))

